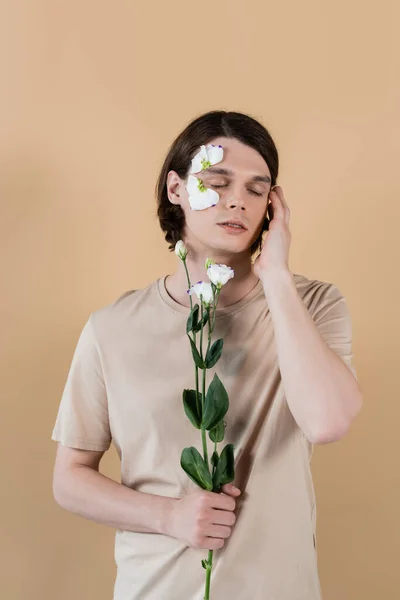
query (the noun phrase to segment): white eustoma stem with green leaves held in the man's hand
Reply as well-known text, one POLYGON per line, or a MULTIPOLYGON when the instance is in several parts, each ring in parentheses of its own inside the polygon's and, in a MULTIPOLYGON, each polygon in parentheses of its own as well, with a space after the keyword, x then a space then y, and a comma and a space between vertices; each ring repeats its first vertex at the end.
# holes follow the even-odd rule
MULTIPOLYGON (((175 246, 175 253, 182 260, 187 280, 190 298, 190 314, 186 323, 186 333, 195 367, 195 388, 183 390, 183 407, 187 417, 194 427, 200 430, 203 446, 203 456, 194 446, 184 448, 181 455, 181 466, 194 483, 200 488, 219 493, 221 487, 234 480, 234 445, 227 444, 222 452, 217 451, 217 444, 222 442, 225 435, 224 417, 228 412, 229 398, 227 391, 215 373, 207 391, 207 369, 218 362, 222 354, 223 340, 218 339, 211 344, 211 336, 215 326, 215 313, 221 288, 234 276, 233 269, 226 265, 215 264, 207 258, 205 267, 210 281, 199 281, 192 285, 186 265, 187 249, 182 240, 175 246), (192 295, 196 294, 200 305, 193 306, 192 295), (207 349, 203 352, 203 331, 208 327, 207 349), (200 333, 200 343, 197 345, 197 334, 200 333), (199 372, 202 373, 201 391, 199 390, 199 372), (207 451, 207 432, 214 443, 214 451, 209 461, 207 451)), ((210 582, 212 571, 213 550, 208 551, 207 560, 201 564, 206 570, 204 600, 210 598, 210 582)))

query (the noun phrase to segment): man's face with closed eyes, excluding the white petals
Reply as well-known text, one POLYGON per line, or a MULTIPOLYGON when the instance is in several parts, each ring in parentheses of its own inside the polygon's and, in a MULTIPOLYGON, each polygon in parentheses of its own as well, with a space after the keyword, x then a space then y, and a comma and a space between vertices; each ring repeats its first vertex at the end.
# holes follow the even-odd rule
POLYGON ((215 253, 241 253, 258 238, 266 217, 271 173, 256 150, 236 139, 219 137, 211 141, 223 147, 224 156, 217 164, 193 173, 205 187, 219 194, 219 202, 204 210, 192 210, 186 181, 179 180, 179 204, 185 213, 182 236, 194 250, 212 249, 215 253), (219 223, 239 219, 246 230, 227 230, 219 223))

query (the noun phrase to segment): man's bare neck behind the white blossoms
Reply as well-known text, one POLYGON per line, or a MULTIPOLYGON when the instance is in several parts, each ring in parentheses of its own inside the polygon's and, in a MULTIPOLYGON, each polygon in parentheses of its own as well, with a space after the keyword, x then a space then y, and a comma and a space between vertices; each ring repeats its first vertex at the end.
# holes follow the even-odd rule
MULTIPOLYGON (((186 267, 189 271, 191 284, 197 283, 198 281, 209 281, 205 268, 207 258, 212 258, 218 264, 225 264, 228 267, 231 267, 235 272, 235 276, 221 289, 218 301, 219 308, 225 308, 241 300, 259 281, 253 271, 249 254, 246 254, 246 256, 232 254, 229 256, 226 254, 219 256, 216 256, 215 254, 213 256, 200 256, 193 252, 189 252, 186 257, 186 267)), ((189 307, 190 300, 187 294, 187 289, 189 287, 187 274, 183 261, 180 259, 178 259, 178 261, 177 270, 171 275, 168 275, 165 285, 167 292, 176 302, 189 307)))

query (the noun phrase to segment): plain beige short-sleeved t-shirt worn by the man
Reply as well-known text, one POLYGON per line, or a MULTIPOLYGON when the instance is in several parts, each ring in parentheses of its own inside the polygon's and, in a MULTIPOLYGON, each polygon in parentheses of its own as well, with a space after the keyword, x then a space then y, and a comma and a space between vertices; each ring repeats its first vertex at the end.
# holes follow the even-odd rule
MULTIPOLYGON (((293 277, 325 341, 355 375, 345 298, 331 283, 293 277)), ((180 466, 184 447, 202 452, 182 403, 183 389, 195 387, 188 314, 167 293, 165 277, 94 311, 73 356, 52 439, 87 450, 107 450, 112 441, 122 483, 141 492, 178 498, 193 489, 180 466)), ((239 302, 217 309, 213 340, 219 337, 222 357, 207 371, 207 386, 216 372, 229 394, 218 450, 234 444, 242 494, 232 534, 214 551, 211 597, 320 600, 313 446, 285 399, 261 281, 239 302)), ((117 530, 114 600, 202 600, 204 558, 207 550, 169 536, 117 530)))

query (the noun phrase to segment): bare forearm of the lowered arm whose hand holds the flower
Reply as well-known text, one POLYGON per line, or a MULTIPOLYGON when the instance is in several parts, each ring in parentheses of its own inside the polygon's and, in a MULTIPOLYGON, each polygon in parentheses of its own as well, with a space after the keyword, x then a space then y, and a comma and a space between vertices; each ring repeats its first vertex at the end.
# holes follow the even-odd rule
POLYGON ((85 519, 116 529, 167 534, 176 498, 146 494, 85 465, 64 471, 54 488, 60 506, 85 519))

